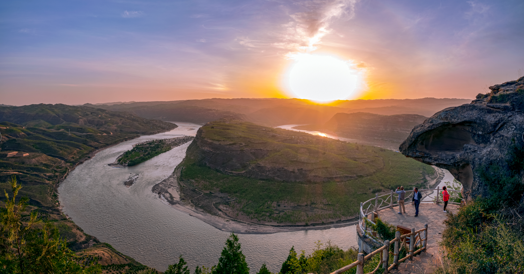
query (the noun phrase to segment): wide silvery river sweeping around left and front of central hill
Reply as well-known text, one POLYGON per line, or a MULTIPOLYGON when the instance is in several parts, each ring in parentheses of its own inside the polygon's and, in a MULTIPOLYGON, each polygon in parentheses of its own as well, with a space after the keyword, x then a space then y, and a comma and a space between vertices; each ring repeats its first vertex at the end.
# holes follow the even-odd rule
MULTIPOLYGON (((151 139, 194 136, 201 125, 176 123, 179 127, 156 135, 141 136, 100 151, 73 170, 58 188, 63 211, 85 233, 118 251, 160 271, 178 261, 182 254, 191 272, 196 265, 217 264, 230 233, 166 205, 151 192, 156 183, 169 177, 182 161, 189 143, 171 149, 139 165, 107 166, 133 144, 151 139), (127 188, 123 182, 138 174, 127 188)), ((315 242, 331 240, 343 249, 357 246, 355 225, 325 230, 238 235, 251 273, 266 264, 278 272, 289 249, 310 253, 315 242)))

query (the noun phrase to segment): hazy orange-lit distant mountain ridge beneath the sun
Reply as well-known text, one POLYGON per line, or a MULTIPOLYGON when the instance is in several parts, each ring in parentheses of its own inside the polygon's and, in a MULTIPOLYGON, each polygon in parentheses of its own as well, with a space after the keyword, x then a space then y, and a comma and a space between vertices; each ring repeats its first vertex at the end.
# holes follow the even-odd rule
POLYGON ((459 106, 470 99, 420 98, 339 100, 318 104, 291 98, 210 98, 202 100, 134 102, 83 106, 124 111, 140 117, 205 124, 222 117, 243 119, 264 126, 324 124, 337 113, 367 112, 381 115, 416 114, 429 117, 443 108, 459 106))

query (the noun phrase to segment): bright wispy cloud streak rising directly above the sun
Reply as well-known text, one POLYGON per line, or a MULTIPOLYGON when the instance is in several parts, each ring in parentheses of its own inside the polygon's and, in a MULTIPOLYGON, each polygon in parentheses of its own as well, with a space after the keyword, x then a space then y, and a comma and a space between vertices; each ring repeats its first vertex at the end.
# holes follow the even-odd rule
POLYGON ((358 0, 311 0, 302 2, 305 12, 291 14, 289 23, 283 25, 282 41, 273 45, 302 52, 317 49, 322 38, 331 33, 330 25, 335 19, 351 19, 355 16, 358 0))

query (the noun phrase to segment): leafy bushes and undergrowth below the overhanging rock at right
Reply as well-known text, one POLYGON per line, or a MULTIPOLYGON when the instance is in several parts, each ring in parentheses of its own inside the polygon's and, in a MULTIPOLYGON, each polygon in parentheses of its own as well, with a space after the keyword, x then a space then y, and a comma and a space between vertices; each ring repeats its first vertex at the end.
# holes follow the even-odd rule
POLYGON ((508 170, 476 170, 489 196, 448 213, 441 242, 446 254, 436 273, 524 273, 523 154, 522 146, 512 145, 508 170))

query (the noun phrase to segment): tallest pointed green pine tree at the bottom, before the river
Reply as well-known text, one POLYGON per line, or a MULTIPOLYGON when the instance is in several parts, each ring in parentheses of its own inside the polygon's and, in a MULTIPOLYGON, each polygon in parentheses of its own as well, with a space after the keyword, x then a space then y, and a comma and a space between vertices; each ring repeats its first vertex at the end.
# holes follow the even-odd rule
POLYGON ((242 254, 238 237, 231 233, 226 240, 226 246, 222 249, 219 264, 212 271, 213 274, 249 274, 246 256, 242 254))

